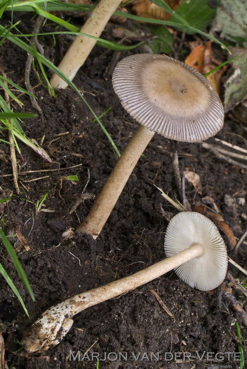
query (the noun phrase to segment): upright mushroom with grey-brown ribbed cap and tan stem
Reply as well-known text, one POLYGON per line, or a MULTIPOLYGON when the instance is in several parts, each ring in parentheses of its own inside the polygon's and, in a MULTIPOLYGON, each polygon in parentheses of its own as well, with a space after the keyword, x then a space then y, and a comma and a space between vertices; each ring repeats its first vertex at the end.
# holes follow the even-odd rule
POLYGON ((194 68, 166 55, 124 58, 112 80, 123 107, 141 125, 77 228, 94 239, 155 132, 172 140, 199 142, 214 136, 224 121, 222 103, 210 82, 194 68))

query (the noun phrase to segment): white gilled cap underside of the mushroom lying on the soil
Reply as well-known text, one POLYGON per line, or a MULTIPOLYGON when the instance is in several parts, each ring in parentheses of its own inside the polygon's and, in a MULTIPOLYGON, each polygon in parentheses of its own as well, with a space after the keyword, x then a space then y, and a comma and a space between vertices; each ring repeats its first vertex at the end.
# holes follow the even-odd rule
POLYGON ((226 246, 216 225, 196 212, 182 212, 169 222, 164 241, 166 257, 173 256, 195 243, 205 252, 175 268, 174 272, 190 287, 210 291, 225 279, 228 258, 226 246))

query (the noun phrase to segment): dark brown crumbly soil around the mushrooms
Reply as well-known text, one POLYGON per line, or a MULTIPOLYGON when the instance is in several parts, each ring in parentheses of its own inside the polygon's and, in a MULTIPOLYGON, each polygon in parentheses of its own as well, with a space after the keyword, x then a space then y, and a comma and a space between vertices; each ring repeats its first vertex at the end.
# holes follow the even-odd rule
MULTIPOLYGON (((18 15, 15 17, 15 21, 19 19, 18 15)), ((21 24, 23 32, 31 32, 30 21, 21 24)), ((109 24, 103 38, 111 39, 114 27, 109 24)), ((146 31, 145 26, 138 27, 146 31)), ((40 42, 45 56, 58 65, 71 41, 58 37, 55 48, 49 36, 40 42)), ((123 110, 114 93, 111 73, 119 59, 139 52, 137 49, 118 53, 96 46, 74 79, 98 116, 111 107, 102 122, 120 151, 136 130, 137 123, 123 110)), ((24 88, 26 60, 27 54, 10 41, 6 40, 1 46, 2 71, 7 78, 24 88)), ((48 70, 47 73, 50 76, 48 70)), ((93 369, 96 368, 97 353, 98 359, 104 359, 105 353, 106 356, 113 353, 107 360, 99 361, 98 368, 107 369, 202 369, 213 365, 214 368, 219 368, 218 365, 238 368, 233 354, 238 352, 236 319, 243 336, 245 326, 222 293, 224 288, 231 286, 229 281, 226 280, 222 288, 201 292, 187 286, 172 272, 76 315, 72 329, 56 347, 41 354, 28 355, 24 350, 16 352, 20 347, 17 340, 21 340, 24 331, 48 307, 82 291, 128 276, 164 257, 164 232, 169 219, 177 211, 165 202, 154 184, 172 199, 178 198, 172 169, 175 151, 178 152, 181 172, 189 169, 200 176, 201 195, 192 184, 185 182, 185 194, 191 207, 204 205, 202 198, 211 196, 237 238, 247 227, 247 206, 243 200, 246 198, 247 172, 220 161, 201 144, 179 143, 156 134, 97 240, 79 234, 64 240, 62 233, 69 227, 76 228, 89 213, 93 205, 92 196, 85 199, 71 215, 69 211, 86 185, 84 194, 98 195, 117 161, 117 155, 99 125, 91 123, 91 113, 75 92, 66 89, 57 91, 56 98, 51 97, 39 85, 33 71, 31 86, 36 86, 33 92, 43 116, 25 120, 23 127, 27 136, 38 143, 44 137, 42 148, 53 162, 45 163, 31 149, 19 143, 26 161, 23 164, 18 157, 20 194, 17 195, 11 176, 9 146, 1 144, 1 197, 13 191, 13 197, 1 211, 1 225, 9 235, 19 230, 30 246, 30 250, 25 251, 16 237, 10 239, 17 249, 19 247, 18 256, 36 298, 35 302, 31 301, 2 248, 0 261, 17 286, 30 314, 28 318, 1 277, 0 319, 5 339, 5 360, 9 368, 93 369), (42 172, 44 170, 47 171, 42 172), (78 175, 79 181, 60 180, 60 176, 68 175, 78 175), (50 190, 42 209, 53 212, 35 214, 37 200, 50 190), (226 195, 230 196, 235 206, 229 206, 226 195), (176 321, 162 309, 151 289, 174 314, 176 321), (76 356, 78 351, 81 352, 81 360, 78 360, 78 355, 73 360, 70 352, 76 356), (82 360, 85 352, 88 357, 82 360), (216 356, 219 352, 223 354, 216 356), (166 353, 172 353, 173 357, 166 353), (190 353, 190 359, 182 353, 190 353)), ((23 111, 36 113, 27 95, 20 99, 24 103, 23 111)), ((19 109, 13 101, 11 108, 19 109)), ((243 127, 227 117, 224 128, 217 134, 220 139, 247 148, 244 136, 243 127)), ((7 139, 7 136, 4 138, 7 139)), ((215 143, 213 138, 209 142, 215 143)), ((209 205, 210 208, 214 211, 214 205, 209 205)), ((243 267, 245 244, 242 244, 240 251, 231 256, 243 267)), ((244 279, 236 268, 229 266, 229 271, 234 277, 244 279)), ((243 305, 243 296, 234 288, 232 293, 243 305)))

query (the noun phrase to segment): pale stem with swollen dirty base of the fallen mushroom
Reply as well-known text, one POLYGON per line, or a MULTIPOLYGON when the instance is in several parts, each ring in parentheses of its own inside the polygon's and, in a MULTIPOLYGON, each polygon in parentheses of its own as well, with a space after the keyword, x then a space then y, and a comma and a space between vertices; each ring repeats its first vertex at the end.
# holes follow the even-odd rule
POLYGON ((75 314, 78 314, 87 307, 99 304, 142 286, 203 254, 204 247, 201 244, 195 243, 184 251, 161 260, 131 276, 83 292, 58 305, 50 307, 42 314, 42 318, 34 322, 24 333, 22 339, 23 346, 30 353, 47 350, 49 347, 55 346, 71 328, 73 324, 71 318, 75 314))

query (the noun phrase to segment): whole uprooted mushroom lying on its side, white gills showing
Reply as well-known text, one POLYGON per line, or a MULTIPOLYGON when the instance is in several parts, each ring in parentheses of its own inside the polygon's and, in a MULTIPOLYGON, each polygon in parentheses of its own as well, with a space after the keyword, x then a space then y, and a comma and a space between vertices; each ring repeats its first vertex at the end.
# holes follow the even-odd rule
POLYGON ((209 291, 222 283, 227 272, 226 246, 216 225, 195 212, 182 212, 170 221, 165 234, 169 256, 131 276, 73 296, 50 307, 24 333, 26 351, 41 352, 58 344, 73 324, 75 314, 150 282, 175 268, 185 283, 209 291))

